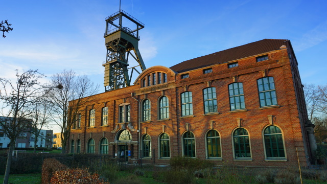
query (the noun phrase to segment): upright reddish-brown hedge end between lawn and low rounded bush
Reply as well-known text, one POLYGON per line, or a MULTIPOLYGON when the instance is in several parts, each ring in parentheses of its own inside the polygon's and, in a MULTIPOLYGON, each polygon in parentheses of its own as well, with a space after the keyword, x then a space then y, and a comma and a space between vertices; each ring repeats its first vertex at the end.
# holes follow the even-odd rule
POLYGON ((49 184, 53 174, 56 171, 62 171, 67 169, 67 166, 61 164, 54 158, 46 158, 42 164, 42 184, 49 184))

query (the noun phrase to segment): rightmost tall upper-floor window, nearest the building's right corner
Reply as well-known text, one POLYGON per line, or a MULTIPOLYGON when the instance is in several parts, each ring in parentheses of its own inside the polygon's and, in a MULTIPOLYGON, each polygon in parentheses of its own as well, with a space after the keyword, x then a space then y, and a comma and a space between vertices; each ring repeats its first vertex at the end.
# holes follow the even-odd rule
POLYGON ((257 80, 260 106, 277 105, 275 83, 273 77, 264 77, 257 80))

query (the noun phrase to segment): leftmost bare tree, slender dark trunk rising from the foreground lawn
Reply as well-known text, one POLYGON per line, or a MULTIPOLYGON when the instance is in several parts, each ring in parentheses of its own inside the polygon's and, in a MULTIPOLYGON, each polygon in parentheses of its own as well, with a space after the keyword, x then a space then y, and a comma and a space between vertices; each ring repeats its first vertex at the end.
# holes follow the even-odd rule
POLYGON ((39 97, 42 86, 39 79, 42 74, 37 70, 28 70, 18 73, 16 70, 17 81, 0 78, 0 100, 3 104, 3 118, 0 126, 5 135, 10 139, 10 147, 7 158, 6 172, 4 177, 5 184, 8 183, 12 153, 15 148, 16 139, 21 133, 28 131, 31 120, 28 119, 27 107, 33 104, 39 97))

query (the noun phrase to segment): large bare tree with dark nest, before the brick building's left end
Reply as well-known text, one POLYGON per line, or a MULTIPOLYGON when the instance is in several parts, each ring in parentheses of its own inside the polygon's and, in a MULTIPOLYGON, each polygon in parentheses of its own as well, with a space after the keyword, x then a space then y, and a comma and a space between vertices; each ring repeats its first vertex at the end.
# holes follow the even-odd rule
POLYGON ((81 106, 92 99, 98 92, 98 86, 87 76, 77 76, 72 70, 64 70, 51 78, 52 89, 50 98, 53 103, 53 121, 61 129, 62 153, 66 153, 66 145, 73 124, 78 121, 78 114, 83 116, 85 111, 79 111, 81 106))

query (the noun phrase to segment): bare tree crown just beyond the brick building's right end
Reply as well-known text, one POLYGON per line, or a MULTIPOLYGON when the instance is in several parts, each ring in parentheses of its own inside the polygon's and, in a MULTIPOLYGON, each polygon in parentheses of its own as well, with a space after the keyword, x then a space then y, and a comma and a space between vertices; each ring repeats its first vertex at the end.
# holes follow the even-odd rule
POLYGON ((314 84, 304 84, 303 91, 305 94, 308 118, 310 121, 313 121, 314 117, 318 116, 317 113, 319 112, 319 90, 314 84))

